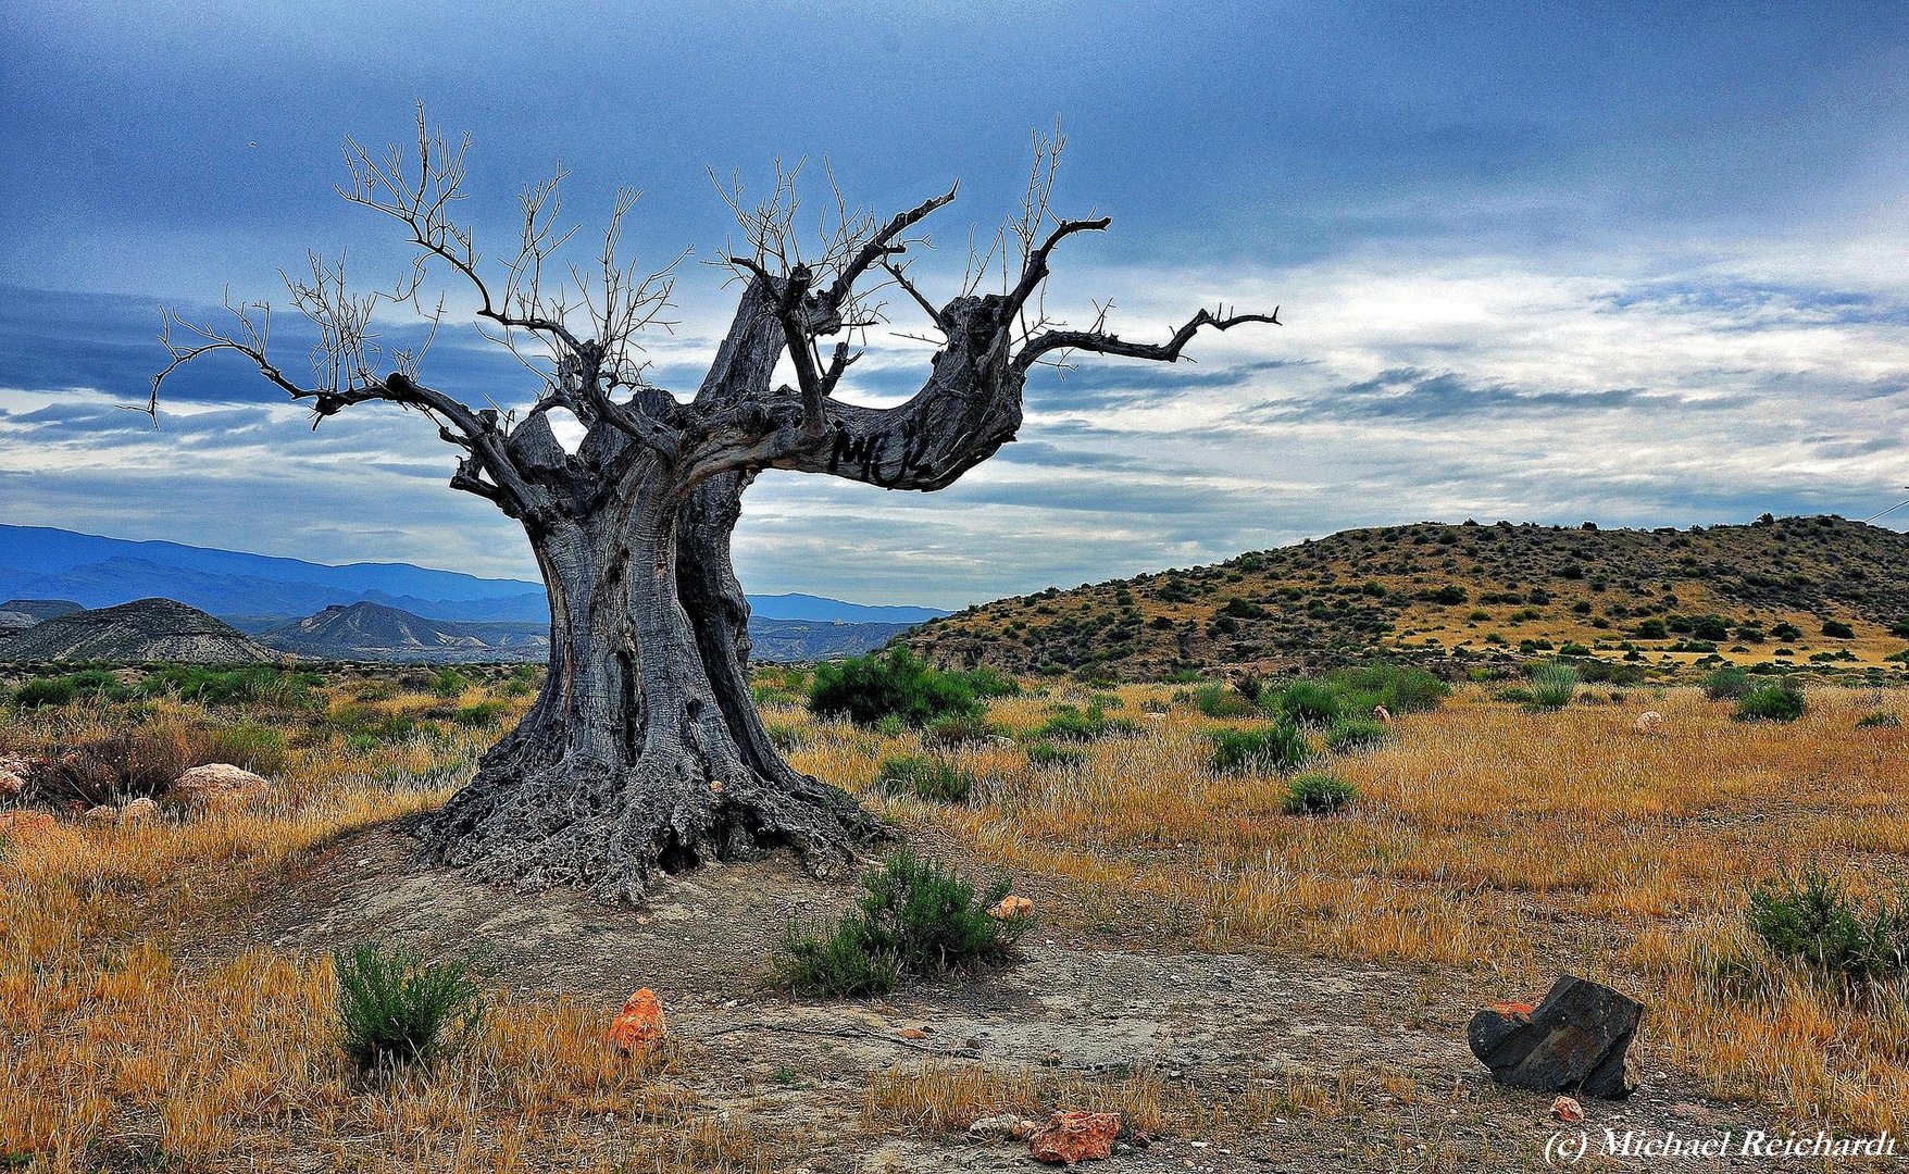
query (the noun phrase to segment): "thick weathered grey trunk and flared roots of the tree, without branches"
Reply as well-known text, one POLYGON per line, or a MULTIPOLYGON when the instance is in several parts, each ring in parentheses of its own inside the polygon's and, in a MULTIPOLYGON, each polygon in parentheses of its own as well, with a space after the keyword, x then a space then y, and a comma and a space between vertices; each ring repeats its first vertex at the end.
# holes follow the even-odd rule
POLYGON ((817 874, 853 863, 874 821, 792 769, 750 702, 727 557, 741 491, 733 475, 682 504, 638 491, 527 527, 550 592, 544 687, 431 825, 441 861, 626 901, 657 872, 771 848, 817 874))

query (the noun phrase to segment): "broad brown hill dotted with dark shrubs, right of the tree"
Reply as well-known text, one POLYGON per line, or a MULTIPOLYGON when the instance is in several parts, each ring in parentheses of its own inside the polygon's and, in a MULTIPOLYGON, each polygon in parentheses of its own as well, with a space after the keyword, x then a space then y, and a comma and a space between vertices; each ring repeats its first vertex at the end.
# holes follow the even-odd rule
POLYGON ((1378 651, 1649 666, 1909 666, 1909 535, 1840 517, 1604 531, 1418 523, 998 599, 905 638, 939 662, 1159 678, 1378 651))

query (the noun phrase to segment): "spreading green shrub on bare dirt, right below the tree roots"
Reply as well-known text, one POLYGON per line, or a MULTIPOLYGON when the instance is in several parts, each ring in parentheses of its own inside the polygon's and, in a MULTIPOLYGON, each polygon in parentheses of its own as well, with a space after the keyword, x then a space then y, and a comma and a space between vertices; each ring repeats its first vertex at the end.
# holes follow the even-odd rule
POLYGON ((953 869, 897 849, 861 878, 861 907, 827 933, 790 926, 773 968, 798 995, 882 995, 901 977, 1000 964, 1031 918, 995 918, 1006 878, 975 890, 953 869))

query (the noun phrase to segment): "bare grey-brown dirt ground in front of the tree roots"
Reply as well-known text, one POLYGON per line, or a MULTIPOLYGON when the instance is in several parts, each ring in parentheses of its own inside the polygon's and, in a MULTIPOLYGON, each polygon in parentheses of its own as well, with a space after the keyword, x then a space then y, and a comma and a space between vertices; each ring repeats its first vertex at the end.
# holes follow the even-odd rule
MULTIPOLYGON (((926 848, 954 855, 949 842, 926 848)), ((1033 880, 1021 891, 1037 903, 1065 899, 1033 880)), ((697 1098, 746 1119, 756 1136, 794 1138, 802 1157, 790 1168, 813 1174, 1035 1164, 1014 1142, 867 1109, 871 1079, 924 1065, 1037 1079, 1147 1075, 1163 1100, 1205 1107, 1182 1113, 1180 1128, 1122 1145, 1109 1170, 1544 1168, 1546 1140, 1567 1128, 1548 1117, 1548 1096, 1497 1088, 1464 1044, 1479 1002, 1539 993, 1476 991, 1466 975, 1430 968, 1193 953, 1134 922, 1105 933, 1037 928, 1017 966, 880 1000, 767 991, 783 928, 832 916, 853 895, 851 882, 817 882, 787 859, 766 859, 668 878, 645 909, 615 909, 571 891, 468 884, 428 867, 405 828, 386 825, 294 867, 246 912, 237 945, 328 951, 395 937, 475 951, 500 987, 598 1004, 605 1023, 632 989, 653 987, 697 1098)), ((1689 1077, 1657 1067, 1647 1035, 1646 1021, 1644 1090, 1621 1103, 1586 1101, 1581 1128, 1596 1138, 1604 1128, 1781 1134, 1760 1111, 1710 1101, 1689 1077)))

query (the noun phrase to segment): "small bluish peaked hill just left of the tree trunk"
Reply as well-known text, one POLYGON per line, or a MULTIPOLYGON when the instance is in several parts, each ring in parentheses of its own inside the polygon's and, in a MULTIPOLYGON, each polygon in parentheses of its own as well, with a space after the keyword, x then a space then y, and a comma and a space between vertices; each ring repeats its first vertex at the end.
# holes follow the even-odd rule
POLYGON ((382 603, 338 603, 260 643, 315 660, 542 660, 546 624, 428 620, 382 603))

